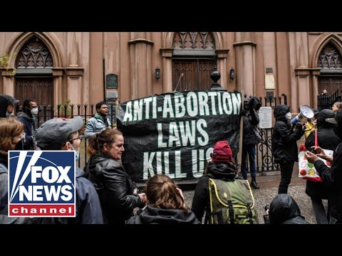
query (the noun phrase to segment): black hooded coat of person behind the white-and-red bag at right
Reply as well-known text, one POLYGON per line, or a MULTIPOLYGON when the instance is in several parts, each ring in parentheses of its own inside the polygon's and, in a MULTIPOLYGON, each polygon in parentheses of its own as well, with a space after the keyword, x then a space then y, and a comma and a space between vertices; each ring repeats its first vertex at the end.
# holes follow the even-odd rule
MULTIPOLYGON (((333 117, 332 110, 322 110, 317 118, 318 146, 322 149, 335 150, 341 139, 333 132, 333 124, 325 122, 326 118, 333 117), (332 115, 331 115, 332 114, 332 115)), ((306 149, 315 145, 315 131, 309 134, 305 141, 306 149)), ((328 199, 328 186, 325 182, 306 181, 305 193, 311 198, 328 199)))

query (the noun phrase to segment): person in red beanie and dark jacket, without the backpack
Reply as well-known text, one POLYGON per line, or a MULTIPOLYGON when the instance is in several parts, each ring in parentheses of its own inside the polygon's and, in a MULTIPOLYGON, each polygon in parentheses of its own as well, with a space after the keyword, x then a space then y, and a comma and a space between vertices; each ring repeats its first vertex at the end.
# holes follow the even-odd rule
MULTIPOLYGON (((235 180, 236 174, 237 167, 234 164, 232 149, 228 142, 217 142, 212 151, 212 159, 209 161, 207 169, 204 171, 204 176, 199 178, 195 188, 194 198, 192 198, 191 210, 195 213, 196 218, 199 221, 202 222, 204 212, 206 213, 204 223, 207 223, 207 220, 210 218, 209 178, 236 183, 246 183, 244 185, 249 187, 248 181, 235 180)), ((229 191, 227 193, 229 193, 229 191)), ((250 193, 252 193, 252 191, 250 193)), ((244 195, 241 197, 244 198, 244 195)))

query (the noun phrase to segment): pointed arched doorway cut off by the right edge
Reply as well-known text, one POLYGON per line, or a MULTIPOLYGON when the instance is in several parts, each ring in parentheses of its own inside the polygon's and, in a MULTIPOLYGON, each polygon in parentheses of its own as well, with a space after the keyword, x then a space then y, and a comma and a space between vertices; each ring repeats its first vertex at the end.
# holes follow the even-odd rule
POLYGON ((326 89, 328 94, 338 90, 338 95, 342 95, 342 63, 341 53, 333 43, 329 42, 321 50, 318 57, 317 67, 321 68, 318 76, 318 93, 326 89))

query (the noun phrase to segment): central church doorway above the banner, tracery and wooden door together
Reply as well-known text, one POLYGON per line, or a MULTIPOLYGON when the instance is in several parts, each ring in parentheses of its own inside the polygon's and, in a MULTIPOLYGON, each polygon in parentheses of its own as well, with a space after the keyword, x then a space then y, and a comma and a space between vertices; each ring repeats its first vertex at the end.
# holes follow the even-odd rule
POLYGON ((212 85, 210 75, 216 60, 212 33, 175 33, 173 48, 172 91, 209 90, 212 85))

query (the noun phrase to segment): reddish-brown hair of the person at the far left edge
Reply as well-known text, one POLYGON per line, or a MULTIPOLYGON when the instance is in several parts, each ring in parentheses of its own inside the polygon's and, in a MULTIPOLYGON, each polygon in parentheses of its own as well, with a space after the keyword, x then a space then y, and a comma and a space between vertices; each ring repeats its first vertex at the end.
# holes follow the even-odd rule
POLYGON ((15 117, 0 118, 0 153, 14 149, 13 139, 24 133, 24 124, 15 117))

